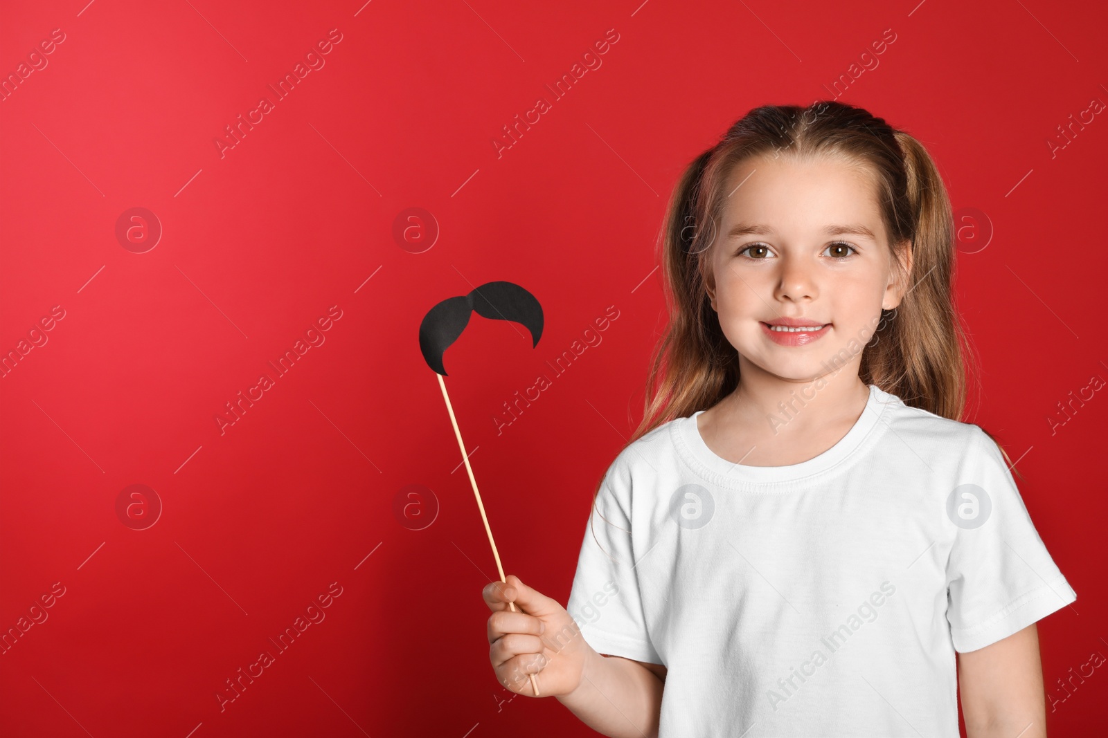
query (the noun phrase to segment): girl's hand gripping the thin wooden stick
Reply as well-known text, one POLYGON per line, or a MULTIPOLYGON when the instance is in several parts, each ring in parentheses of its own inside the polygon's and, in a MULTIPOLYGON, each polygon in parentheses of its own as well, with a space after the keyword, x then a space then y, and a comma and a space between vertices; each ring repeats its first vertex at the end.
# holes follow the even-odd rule
POLYGON ((514 574, 507 583, 490 582, 482 591, 489 616, 489 661, 496 680, 520 695, 534 696, 535 674, 543 697, 567 695, 581 684, 591 646, 570 613, 514 574), (507 607, 515 603, 517 612, 507 607))

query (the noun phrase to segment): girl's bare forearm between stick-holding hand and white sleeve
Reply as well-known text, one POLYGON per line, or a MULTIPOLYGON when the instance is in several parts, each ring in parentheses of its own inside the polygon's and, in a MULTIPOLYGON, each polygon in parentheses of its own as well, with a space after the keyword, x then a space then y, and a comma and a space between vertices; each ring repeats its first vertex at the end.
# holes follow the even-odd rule
POLYGON ((581 684, 557 699, 604 736, 657 738, 665 668, 623 656, 603 656, 589 647, 581 684))

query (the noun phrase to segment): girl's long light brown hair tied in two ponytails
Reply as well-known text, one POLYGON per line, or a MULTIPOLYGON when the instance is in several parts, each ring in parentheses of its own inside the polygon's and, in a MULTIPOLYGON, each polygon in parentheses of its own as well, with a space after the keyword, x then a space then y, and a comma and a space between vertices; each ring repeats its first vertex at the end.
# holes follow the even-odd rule
POLYGON ((844 103, 763 105, 697 156, 670 196, 658 238, 668 325, 652 355, 642 423, 624 448, 669 420, 712 407, 738 386, 738 354, 706 290, 709 247, 735 167, 780 150, 837 155, 871 174, 894 268, 902 266, 906 245, 912 266, 909 291, 895 311, 886 311, 881 340, 874 335, 863 349, 859 376, 906 405, 963 419, 965 370, 976 361, 954 305, 951 202, 927 150, 883 118, 844 103))

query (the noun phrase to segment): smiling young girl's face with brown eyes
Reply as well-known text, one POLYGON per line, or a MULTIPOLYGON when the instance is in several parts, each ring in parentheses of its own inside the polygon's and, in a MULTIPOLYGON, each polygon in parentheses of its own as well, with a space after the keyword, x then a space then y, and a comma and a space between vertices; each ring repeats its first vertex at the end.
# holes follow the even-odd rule
POLYGON ((881 310, 905 290, 872 180, 841 159, 763 156, 736 166, 727 191, 708 279, 727 340, 781 378, 856 374, 881 310), (770 328, 786 319, 811 328, 770 328))

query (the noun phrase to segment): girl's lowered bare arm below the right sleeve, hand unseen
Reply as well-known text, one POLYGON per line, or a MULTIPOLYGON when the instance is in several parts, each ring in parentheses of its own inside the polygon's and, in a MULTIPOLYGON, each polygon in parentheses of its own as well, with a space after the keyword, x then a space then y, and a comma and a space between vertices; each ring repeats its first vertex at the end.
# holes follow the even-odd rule
POLYGON ((968 738, 1046 738, 1038 631, 958 654, 958 687, 968 738))

